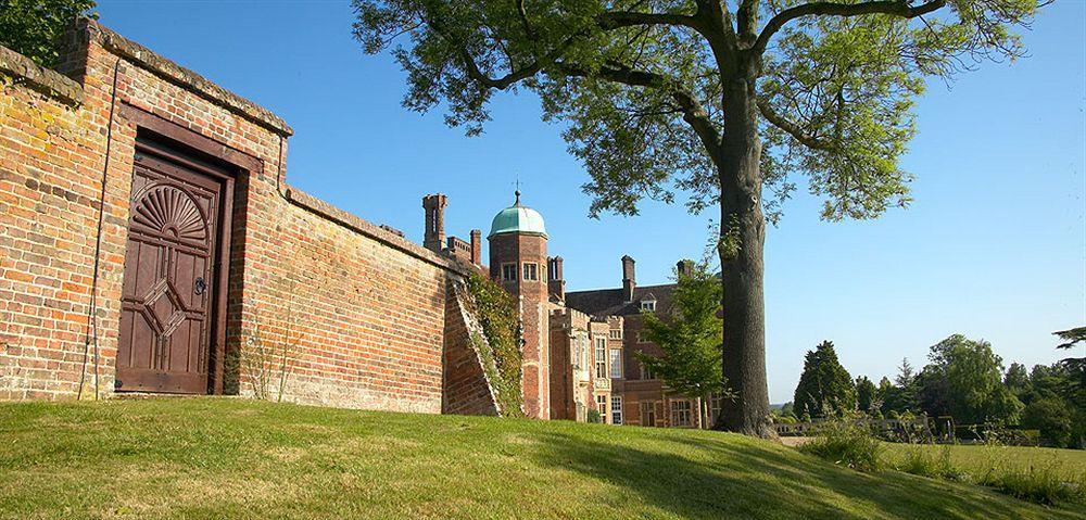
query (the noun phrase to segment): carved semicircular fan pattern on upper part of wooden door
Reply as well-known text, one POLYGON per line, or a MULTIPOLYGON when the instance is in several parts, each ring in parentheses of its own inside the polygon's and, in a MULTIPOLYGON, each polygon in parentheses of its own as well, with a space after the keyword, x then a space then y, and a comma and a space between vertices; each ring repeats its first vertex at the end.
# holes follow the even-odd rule
POLYGON ((151 187, 136 204, 132 219, 165 236, 203 241, 207 221, 200 206, 176 186, 151 187))

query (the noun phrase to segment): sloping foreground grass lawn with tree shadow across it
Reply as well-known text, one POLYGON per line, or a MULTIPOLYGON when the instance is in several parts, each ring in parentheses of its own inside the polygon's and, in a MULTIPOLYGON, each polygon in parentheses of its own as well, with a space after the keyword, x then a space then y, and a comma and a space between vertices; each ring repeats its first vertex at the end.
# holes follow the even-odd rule
POLYGON ((733 434, 230 398, 0 404, 0 518, 1086 518, 733 434))

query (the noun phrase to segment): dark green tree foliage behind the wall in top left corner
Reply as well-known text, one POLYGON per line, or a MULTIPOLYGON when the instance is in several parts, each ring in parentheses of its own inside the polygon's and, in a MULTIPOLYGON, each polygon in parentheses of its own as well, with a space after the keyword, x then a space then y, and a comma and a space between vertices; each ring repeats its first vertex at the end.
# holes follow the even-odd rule
POLYGON ((51 66, 61 36, 94 5, 94 0, 0 0, 0 45, 51 66))

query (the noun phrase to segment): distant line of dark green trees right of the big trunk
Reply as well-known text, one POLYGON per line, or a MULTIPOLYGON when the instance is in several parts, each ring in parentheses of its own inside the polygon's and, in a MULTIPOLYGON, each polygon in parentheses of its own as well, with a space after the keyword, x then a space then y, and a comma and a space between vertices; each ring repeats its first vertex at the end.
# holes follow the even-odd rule
MULTIPOLYGON (((1056 332, 1058 348, 1086 348, 1086 327, 1056 332)), ((1002 358, 984 340, 951 335, 932 345, 919 371, 901 362, 893 380, 879 384, 853 379, 833 343, 806 355, 792 403, 776 411, 783 422, 836 418, 860 413, 872 418, 925 415, 950 417, 957 424, 1037 430, 1060 447, 1086 447, 1086 358, 1069 357, 1027 369, 1002 358)))

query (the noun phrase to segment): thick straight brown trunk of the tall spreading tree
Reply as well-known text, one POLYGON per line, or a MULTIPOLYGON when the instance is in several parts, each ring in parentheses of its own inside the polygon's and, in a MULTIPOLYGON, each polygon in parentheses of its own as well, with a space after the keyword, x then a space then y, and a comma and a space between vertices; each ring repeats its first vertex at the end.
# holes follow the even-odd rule
POLYGON ((717 163, 720 188, 720 265, 724 290, 723 376, 735 392, 718 428, 772 436, 766 382, 766 309, 761 212, 761 142, 753 83, 738 79, 724 94, 724 132, 717 163))

